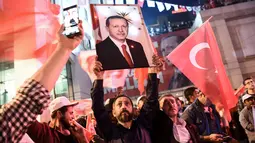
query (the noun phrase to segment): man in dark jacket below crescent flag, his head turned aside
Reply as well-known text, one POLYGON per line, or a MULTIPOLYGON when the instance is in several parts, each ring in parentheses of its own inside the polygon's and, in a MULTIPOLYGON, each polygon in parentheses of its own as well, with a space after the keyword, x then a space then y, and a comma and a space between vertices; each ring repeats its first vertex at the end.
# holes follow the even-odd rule
POLYGON ((221 130, 219 113, 202 92, 199 92, 197 99, 183 112, 181 118, 188 124, 196 125, 202 142, 233 140, 221 130))

